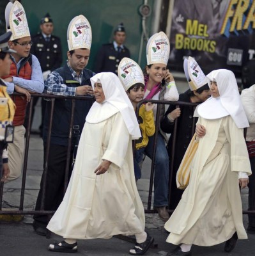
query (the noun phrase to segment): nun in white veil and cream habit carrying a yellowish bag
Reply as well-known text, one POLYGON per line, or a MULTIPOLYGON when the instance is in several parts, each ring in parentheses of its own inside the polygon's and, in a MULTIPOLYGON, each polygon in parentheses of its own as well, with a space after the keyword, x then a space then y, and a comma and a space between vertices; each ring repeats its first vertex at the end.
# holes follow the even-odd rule
POLYGON ((167 242, 180 244, 168 255, 191 255, 191 246, 226 241, 231 252, 237 239, 247 239, 239 191, 251 174, 243 128, 249 123, 235 75, 214 70, 206 76, 212 97, 197 108, 199 146, 192 160, 189 186, 165 228, 167 242))

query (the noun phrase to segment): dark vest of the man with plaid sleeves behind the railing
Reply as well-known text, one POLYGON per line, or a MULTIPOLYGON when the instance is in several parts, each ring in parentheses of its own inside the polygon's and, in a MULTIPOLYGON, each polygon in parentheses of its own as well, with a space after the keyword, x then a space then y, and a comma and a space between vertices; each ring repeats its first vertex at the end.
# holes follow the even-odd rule
MULTIPOLYGON (((64 67, 55 70, 61 77, 63 77, 64 83, 69 87, 81 86, 77 81, 73 80, 73 76, 68 68, 67 64, 64 67), (72 83, 73 81, 73 83, 72 83)), ((89 84, 90 77, 94 76, 91 70, 84 68, 82 84, 89 84)), ((83 126, 85 124, 86 116, 93 104, 93 100, 75 100, 75 111, 73 125, 79 125, 79 130, 82 132, 83 126)), ((51 102, 47 101, 45 118, 43 123, 43 141, 47 142, 47 132, 50 120, 50 108, 51 102)), ((72 99, 56 99, 54 104, 54 113, 52 120, 52 131, 50 143, 55 145, 68 145, 69 136, 69 125, 71 120, 72 111, 72 99)), ((72 134, 72 143, 75 143, 75 136, 72 134)))

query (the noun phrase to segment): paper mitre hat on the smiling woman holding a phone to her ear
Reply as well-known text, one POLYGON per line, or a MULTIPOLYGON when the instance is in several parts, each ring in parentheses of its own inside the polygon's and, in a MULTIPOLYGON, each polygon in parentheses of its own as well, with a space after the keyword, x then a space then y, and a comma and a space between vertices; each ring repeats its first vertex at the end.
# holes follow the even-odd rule
POLYGON ((167 65, 170 54, 169 40, 164 32, 154 34, 146 46, 147 65, 163 63, 167 65))

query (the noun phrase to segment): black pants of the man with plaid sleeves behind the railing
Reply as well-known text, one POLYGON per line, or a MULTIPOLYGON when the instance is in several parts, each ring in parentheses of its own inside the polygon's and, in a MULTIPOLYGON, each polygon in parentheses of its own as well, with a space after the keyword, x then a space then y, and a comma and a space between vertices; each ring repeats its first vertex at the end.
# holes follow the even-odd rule
MULTIPOLYGON (((46 156, 46 145, 43 145, 44 157, 46 156)), ((73 148, 71 148, 70 156, 73 155, 73 148)), ((67 158, 67 147, 61 145, 50 145, 48 172, 45 188, 45 211, 56 211, 63 200, 65 194, 65 166, 67 158)), ((45 163, 45 159, 44 159, 45 163)), ((72 173, 72 157, 69 164, 68 180, 72 173)), ((40 191, 36 200, 36 211, 40 210, 42 202, 43 176, 40 185, 40 191)), ((35 215, 34 227, 46 227, 48 223, 47 215, 35 215)))

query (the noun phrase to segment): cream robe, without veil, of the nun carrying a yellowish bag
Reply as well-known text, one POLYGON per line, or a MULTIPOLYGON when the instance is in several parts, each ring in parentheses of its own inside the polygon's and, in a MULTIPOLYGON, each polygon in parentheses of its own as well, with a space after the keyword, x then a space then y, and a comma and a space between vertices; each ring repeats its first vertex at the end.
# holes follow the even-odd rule
POLYGON ((168 243, 212 246, 236 231, 239 239, 247 234, 242 221, 238 172, 251 174, 243 129, 231 116, 215 120, 199 118, 206 135, 192 161, 189 186, 165 228, 168 243))

